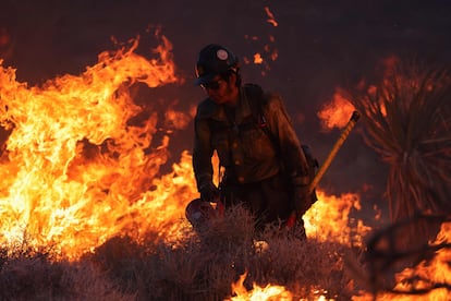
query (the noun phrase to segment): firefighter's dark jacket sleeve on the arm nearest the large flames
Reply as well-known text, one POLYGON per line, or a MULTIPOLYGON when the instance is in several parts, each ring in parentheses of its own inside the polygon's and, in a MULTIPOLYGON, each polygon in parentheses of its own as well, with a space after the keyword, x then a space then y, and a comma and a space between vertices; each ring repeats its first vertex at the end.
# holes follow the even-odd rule
POLYGON ((200 191, 203 185, 210 184, 212 181, 212 154, 214 148, 211 146, 211 133, 208 118, 206 118, 203 108, 198 107, 196 117, 194 118, 193 148, 193 170, 198 191, 200 191))

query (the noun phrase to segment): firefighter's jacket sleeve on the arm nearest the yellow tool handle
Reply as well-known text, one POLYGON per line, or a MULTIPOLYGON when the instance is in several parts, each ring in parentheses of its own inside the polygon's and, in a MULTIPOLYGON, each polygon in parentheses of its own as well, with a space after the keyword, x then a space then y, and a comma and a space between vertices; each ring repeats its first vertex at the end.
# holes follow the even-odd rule
POLYGON ((279 144, 279 153, 283 168, 292 185, 308 185, 308 164, 293 123, 288 115, 283 100, 278 95, 266 95, 267 106, 265 116, 269 130, 275 134, 279 144))

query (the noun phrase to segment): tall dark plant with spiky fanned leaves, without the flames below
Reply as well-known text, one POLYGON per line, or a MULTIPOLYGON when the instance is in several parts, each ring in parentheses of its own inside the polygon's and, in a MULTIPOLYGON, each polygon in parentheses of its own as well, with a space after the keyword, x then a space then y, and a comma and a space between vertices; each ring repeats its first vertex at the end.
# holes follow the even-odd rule
MULTIPOLYGON (((451 213, 451 79, 448 68, 391 60, 376 85, 362 82, 352 97, 366 142, 389 165, 392 221, 416 213, 451 213)), ((434 239, 439 225, 416 222, 397 241, 434 239)))

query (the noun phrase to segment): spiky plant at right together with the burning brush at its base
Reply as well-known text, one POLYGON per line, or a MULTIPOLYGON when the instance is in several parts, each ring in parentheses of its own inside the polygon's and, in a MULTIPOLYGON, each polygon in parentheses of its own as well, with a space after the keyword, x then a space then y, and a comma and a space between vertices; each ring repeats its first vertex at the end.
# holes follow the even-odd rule
POLYGON ((373 290, 394 293, 381 300, 407 300, 405 293, 448 300, 450 70, 391 58, 383 71, 379 84, 362 82, 351 98, 366 121, 367 143, 390 167, 387 197, 393 225, 368 242, 373 290), (385 274, 403 265, 412 268, 383 282, 385 274))

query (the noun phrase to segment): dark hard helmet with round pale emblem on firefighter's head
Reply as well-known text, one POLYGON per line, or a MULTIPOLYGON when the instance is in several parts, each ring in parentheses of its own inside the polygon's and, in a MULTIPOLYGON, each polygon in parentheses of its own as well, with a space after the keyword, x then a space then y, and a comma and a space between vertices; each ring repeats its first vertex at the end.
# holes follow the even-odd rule
POLYGON ((196 62, 196 85, 206 84, 227 71, 237 72, 239 59, 227 47, 210 44, 204 47, 196 62))

